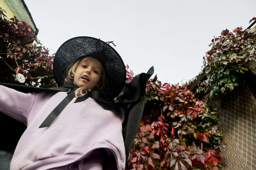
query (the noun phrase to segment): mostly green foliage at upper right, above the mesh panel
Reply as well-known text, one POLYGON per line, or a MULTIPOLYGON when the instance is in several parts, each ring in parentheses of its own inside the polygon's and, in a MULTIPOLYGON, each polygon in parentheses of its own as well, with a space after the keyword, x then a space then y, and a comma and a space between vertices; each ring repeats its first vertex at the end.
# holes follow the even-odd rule
POLYGON ((239 77, 248 71, 249 63, 256 61, 256 28, 243 31, 237 27, 233 32, 226 29, 209 46, 212 48, 204 57, 203 68, 207 78, 199 83, 197 92, 212 97, 232 91, 239 77))

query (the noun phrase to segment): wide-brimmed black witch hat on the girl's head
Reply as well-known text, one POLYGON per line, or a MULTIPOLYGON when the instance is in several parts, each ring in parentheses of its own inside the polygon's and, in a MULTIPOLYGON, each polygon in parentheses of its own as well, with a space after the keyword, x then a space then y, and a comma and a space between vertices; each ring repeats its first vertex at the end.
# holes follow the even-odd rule
POLYGON ((68 39, 60 46, 53 60, 54 77, 58 86, 63 86, 68 67, 87 56, 95 57, 102 63, 107 79, 106 95, 109 99, 114 99, 125 84, 125 65, 112 46, 97 38, 79 36, 68 39), (103 55, 97 55, 99 53, 103 55))

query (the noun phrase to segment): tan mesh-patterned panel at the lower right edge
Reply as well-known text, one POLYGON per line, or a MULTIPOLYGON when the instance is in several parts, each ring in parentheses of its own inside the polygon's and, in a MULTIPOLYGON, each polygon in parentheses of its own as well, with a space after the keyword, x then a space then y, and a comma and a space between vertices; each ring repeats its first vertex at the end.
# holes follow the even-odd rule
POLYGON ((256 100, 245 81, 221 99, 223 169, 256 169, 256 100))

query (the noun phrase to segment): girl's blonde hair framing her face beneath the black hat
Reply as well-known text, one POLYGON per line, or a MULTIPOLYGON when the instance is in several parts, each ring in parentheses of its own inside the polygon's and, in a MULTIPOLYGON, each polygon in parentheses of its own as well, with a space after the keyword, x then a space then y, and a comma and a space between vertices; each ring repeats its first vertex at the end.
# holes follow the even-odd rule
MULTIPOLYGON (((74 74, 76 72, 77 67, 79 67, 83 61, 87 60, 88 57, 84 57, 82 59, 77 60, 71 67, 69 67, 67 69, 67 72, 66 72, 67 76, 64 80, 65 82, 74 83, 74 76, 72 74, 74 74)), ((100 81, 102 82, 101 87, 95 87, 94 89, 100 90, 100 89, 106 88, 106 86, 107 86, 106 73, 104 71, 103 66, 102 66, 102 73, 101 73, 100 81)), ((75 92, 76 97, 81 97, 81 96, 84 96, 86 94, 87 94, 87 89, 85 87, 79 87, 75 92)))

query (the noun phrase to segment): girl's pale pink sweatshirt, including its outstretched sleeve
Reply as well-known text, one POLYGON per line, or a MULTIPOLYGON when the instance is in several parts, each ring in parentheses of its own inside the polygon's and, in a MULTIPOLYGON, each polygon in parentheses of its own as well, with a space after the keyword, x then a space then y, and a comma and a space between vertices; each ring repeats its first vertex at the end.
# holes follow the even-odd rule
MULTIPOLYGON (((97 148, 105 148, 125 168, 122 118, 88 98, 76 97, 52 122, 38 128, 67 92, 25 94, 0 85, 0 111, 27 125, 15 149, 10 169, 54 169, 78 162, 97 148)), ((121 113, 120 113, 121 114, 121 113)))

